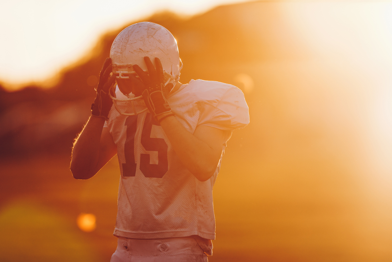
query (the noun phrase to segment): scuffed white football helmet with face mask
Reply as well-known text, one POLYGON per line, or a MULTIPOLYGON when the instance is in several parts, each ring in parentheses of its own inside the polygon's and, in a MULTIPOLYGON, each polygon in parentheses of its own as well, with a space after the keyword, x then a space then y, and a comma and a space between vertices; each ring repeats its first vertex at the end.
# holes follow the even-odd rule
MULTIPOLYGON (((113 74, 116 75, 117 85, 124 85, 129 80, 130 74, 138 77, 133 70, 133 65, 138 65, 145 72, 148 72, 144 62, 145 56, 148 56, 153 64, 155 63, 154 58, 160 59, 165 86, 172 83, 174 87, 180 80, 180 70, 182 68, 177 41, 165 27, 151 22, 130 25, 114 39, 110 49, 110 58, 112 59, 113 74)), ((112 87, 113 94, 115 86, 112 87)), ((113 97, 111 93, 109 92, 109 96, 113 99, 114 107, 122 115, 134 116, 147 110, 142 96, 135 97, 134 94, 130 93, 125 94, 126 99, 119 99, 113 97)))

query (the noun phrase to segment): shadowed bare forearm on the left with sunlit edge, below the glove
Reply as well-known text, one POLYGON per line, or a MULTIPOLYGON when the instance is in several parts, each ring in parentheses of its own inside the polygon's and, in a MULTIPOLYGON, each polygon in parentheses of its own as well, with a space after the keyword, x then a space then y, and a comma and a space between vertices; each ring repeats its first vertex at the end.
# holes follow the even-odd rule
POLYGON ((100 138, 105 119, 91 116, 72 150, 71 172, 76 179, 89 179, 97 170, 100 138))

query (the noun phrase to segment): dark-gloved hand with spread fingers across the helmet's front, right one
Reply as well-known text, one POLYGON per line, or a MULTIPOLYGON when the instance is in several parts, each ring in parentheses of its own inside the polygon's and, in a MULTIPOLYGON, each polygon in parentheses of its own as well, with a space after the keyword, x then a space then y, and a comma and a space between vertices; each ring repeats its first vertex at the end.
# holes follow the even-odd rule
POLYGON ((166 87, 164 86, 163 69, 159 58, 155 58, 156 69, 148 56, 144 57, 144 61, 147 65, 148 74, 138 65, 133 65, 133 69, 142 80, 142 85, 140 85, 141 81, 136 76, 131 75, 130 78, 134 82, 139 82, 138 86, 142 88, 141 93, 144 102, 150 113, 159 122, 167 116, 174 116, 166 100, 166 90, 171 90, 173 84, 169 83, 166 87))

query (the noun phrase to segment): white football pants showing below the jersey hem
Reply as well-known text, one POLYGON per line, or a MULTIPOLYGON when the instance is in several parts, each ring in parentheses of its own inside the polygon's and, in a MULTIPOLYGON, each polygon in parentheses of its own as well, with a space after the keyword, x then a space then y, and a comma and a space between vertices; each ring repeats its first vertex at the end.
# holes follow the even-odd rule
POLYGON ((127 239, 119 237, 110 262, 208 262, 193 237, 127 239))

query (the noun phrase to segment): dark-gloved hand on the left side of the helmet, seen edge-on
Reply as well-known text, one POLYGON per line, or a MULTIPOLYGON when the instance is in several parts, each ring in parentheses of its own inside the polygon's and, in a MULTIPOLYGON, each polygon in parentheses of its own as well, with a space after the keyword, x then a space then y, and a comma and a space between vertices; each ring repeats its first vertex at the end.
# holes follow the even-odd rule
POLYGON ((112 60, 111 58, 106 58, 99 74, 99 82, 96 88, 97 96, 94 103, 91 105, 91 110, 93 111, 91 114, 93 116, 103 117, 105 120, 108 119, 107 116, 109 115, 110 108, 113 105, 113 101, 109 97, 109 88, 116 81, 116 76, 113 74, 109 77, 111 72, 112 60))

